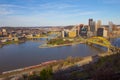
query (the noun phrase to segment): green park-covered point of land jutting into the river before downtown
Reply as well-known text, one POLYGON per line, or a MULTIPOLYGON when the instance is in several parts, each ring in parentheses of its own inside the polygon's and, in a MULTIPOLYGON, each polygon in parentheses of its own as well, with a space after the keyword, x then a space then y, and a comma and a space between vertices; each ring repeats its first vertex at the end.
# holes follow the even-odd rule
POLYGON ((72 46, 81 43, 85 43, 82 38, 55 38, 47 40, 47 42, 43 45, 40 45, 39 48, 72 46))

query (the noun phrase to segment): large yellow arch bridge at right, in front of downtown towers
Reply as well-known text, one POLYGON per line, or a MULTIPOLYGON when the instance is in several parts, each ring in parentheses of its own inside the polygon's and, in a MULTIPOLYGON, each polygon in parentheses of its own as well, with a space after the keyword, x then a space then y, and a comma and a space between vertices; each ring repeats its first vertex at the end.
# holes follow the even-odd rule
POLYGON ((112 46, 112 44, 110 43, 110 41, 108 41, 104 37, 91 37, 91 38, 88 38, 86 40, 86 43, 87 44, 100 45, 100 46, 108 48, 108 50, 111 50, 112 52, 120 53, 120 48, 112 46))

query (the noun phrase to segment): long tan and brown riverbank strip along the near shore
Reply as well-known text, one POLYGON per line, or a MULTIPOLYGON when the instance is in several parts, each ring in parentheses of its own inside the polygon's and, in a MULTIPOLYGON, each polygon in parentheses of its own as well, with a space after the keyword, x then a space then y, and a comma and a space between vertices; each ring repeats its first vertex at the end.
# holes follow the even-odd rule
MULTIPOLYGON (((104 56, 108 56, 108 55, 110 55, 110 54, 104 53, 104 56)), ((41 64, 34 65, 34 66, 29 66, 29 67, 25 67, 25 68, 2 72, 0 74, 0 78, 10 77, 10 76, 15 76, 15 75, 29 74, 34 71, 41 71, 46 66, 50 66, 50 65, 54 66, 55 71, 56 71, 56 65, 57 65, 57 67, 60 67, 60 64, 63 65, 60 67, 60 69, 66 69, 66 68, 69 68, 69 67, 75 66, 75 65, 83 66, 83 65, 89 64, 91 62, 96 62, 100 57, 103 57, 103 56, 94 55, 94 56, 87 56, 87 57, 83 57, 83 58, 73 58, 73 59, 67 58, 65 60, 47 61, 47 62, 43 62, 41 64), (71 61, 73 61, 73 62, 71 62, 71 61)), ((58 70, 58 68, 57 68, 57 70, 58 70)))

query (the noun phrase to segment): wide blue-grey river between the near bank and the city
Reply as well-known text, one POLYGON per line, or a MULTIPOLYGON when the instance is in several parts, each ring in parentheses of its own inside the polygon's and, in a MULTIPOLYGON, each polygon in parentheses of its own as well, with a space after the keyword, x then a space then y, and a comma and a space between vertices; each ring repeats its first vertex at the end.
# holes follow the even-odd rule
POLYGON ((86 44, 39 48, 43 43, 44 40, 38 39, 0 48, 0 72, 32 66, 49 60, 65 59, 69 56, 85 57, 106 51, 105 48, 91 47, 86 44))

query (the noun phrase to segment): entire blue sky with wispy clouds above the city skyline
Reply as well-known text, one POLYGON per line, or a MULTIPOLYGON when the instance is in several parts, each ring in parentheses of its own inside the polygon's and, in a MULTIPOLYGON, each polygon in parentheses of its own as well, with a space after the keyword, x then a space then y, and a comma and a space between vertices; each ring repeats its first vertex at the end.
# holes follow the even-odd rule
POLYGON ((120 24, 120 0, 0 0, 0 26, 120 24))

